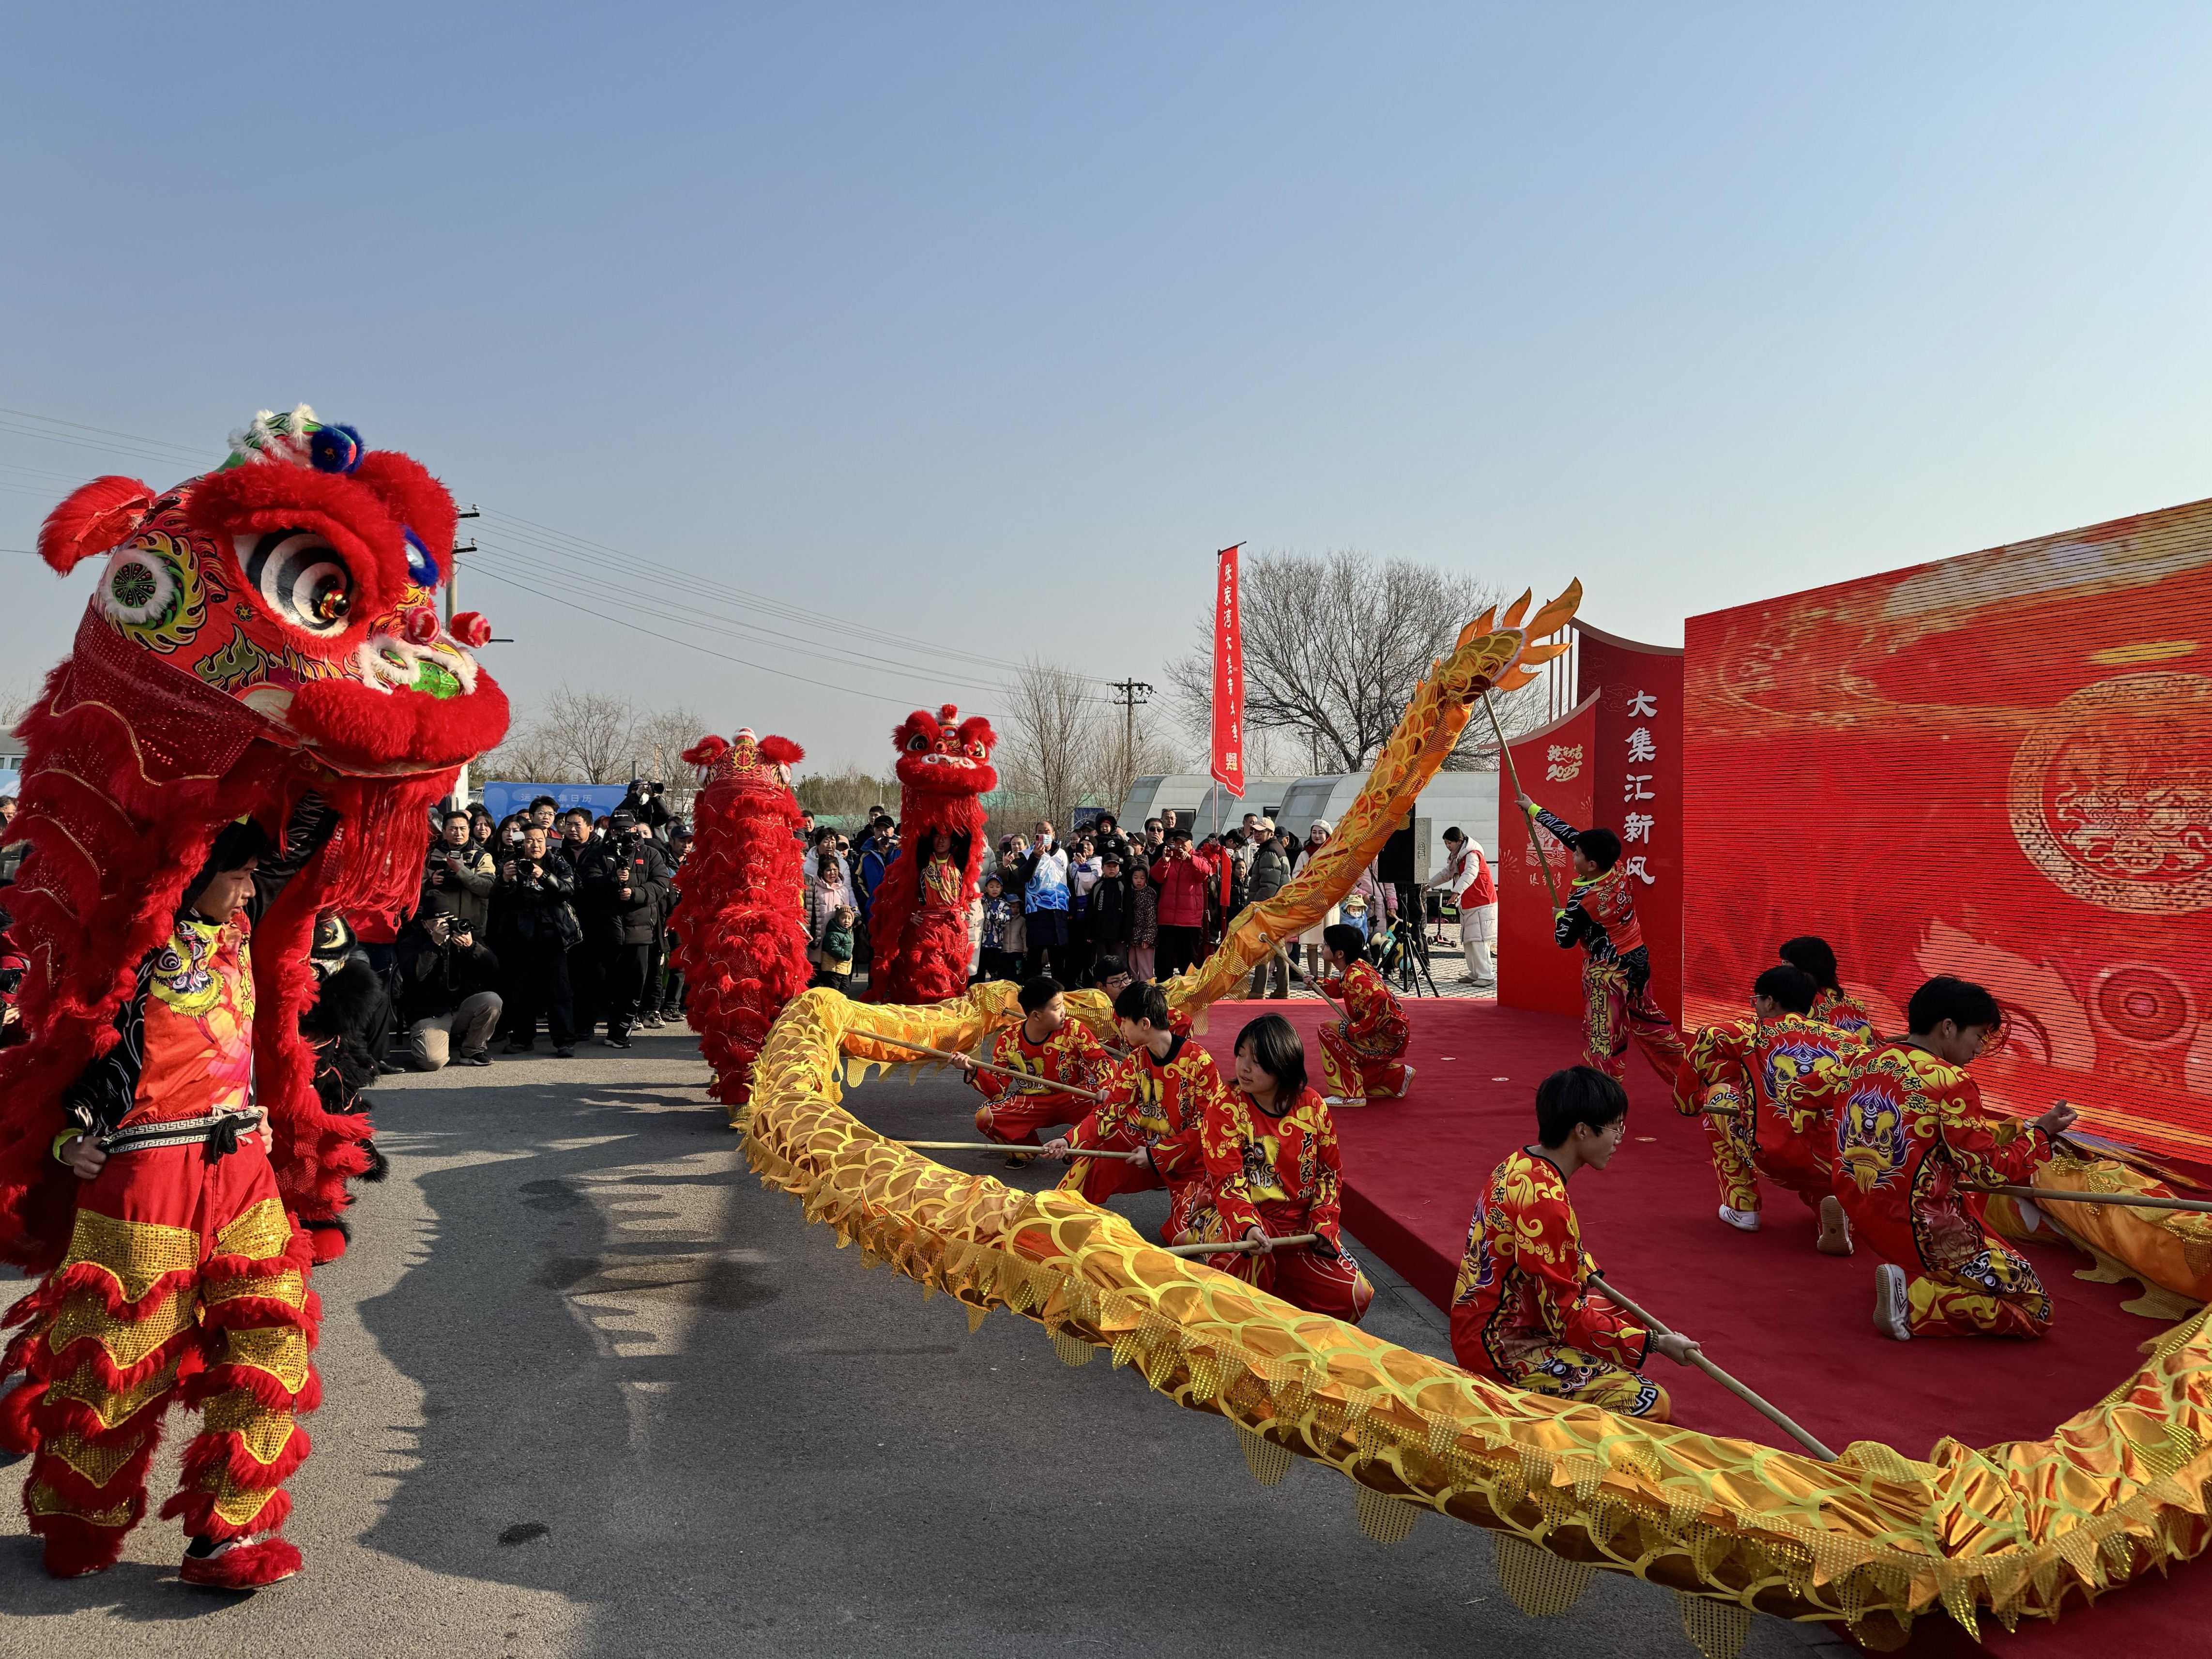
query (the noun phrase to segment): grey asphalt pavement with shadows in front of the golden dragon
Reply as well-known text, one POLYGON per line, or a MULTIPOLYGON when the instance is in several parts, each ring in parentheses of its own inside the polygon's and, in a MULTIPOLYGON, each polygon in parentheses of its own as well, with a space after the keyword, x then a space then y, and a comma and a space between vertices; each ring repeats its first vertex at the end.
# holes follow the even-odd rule
MULTIPOLYGON (((1228 1425, 1135 1369, 1066 1367, 1004 1312, 971 1336, 761 1188, 688 1033, 540 1055, 376 1091, 392 1179, 314 1281, 305 1573, 190 1590, 148 1522, 113 1571, 53 1582, 11 1500, 0 1655, 1694 1655, 1657 1586, 1599 1575, 1524 1617, 1482 1531, 1425 1515, 1376 1544, 1343 1478, 1261 1486, 1228 1425)), ((847 1097, 933 1137, 971 1099, 947 1077, 847 1097)), ((1449 1354, 1442 1314, 1363 1261, 1367 1327, 1449 1354)), ((1823 1648, 1847 1652, 1756 1619, 1745 1655, 1823 1648)))

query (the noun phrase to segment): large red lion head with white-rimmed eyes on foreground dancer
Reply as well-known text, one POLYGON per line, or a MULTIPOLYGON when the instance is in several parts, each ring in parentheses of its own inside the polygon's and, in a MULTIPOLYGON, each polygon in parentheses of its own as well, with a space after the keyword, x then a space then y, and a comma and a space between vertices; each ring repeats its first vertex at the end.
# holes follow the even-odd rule
POLYGON ((491 624, 438 617, 445 484, 307 405, 261 411, 230 447, 168 491, 95 478, 46 515, 55 571, 106 555, 80 657, 188 675, 338 772, 434 772, 498 743, 507 697, 471 655, 491 624))

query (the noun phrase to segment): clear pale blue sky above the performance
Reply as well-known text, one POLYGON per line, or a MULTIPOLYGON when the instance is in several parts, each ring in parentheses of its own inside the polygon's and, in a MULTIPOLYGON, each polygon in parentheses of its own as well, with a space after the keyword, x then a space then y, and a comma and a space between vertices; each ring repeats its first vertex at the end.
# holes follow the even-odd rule
MULTIPOLYGON (((1159 681, 1234 540, 1579 575, 1679 641, 2212 493, 2208 49, 2192 7, 18 9, 0 405, 215 458, 314 403, 624 551, 484 531, 586 606, 465 588, 518 708, 827 765, 989 710, 987 661, 1159 681)), ((0 429, 0 546, 113 469, 190 471, 0 429)), ((91 577, 0 560, 20 684, 91 577)))

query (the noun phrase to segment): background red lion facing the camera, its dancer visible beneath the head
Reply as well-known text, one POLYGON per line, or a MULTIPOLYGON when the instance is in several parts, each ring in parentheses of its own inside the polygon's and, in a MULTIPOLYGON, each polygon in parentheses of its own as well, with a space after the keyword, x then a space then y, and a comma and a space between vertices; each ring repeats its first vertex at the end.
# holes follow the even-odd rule
POLYGON ((898 856, 867 907, 872 1002, 945 1002, 967 989, 967 918, 982 891, 982 796, 998 787, 982 714, 914 710, 898 748, 898 856), (958 726, 956 726, 958 721, 958 726), (938 832, 947 836, 936 854, 938 832))

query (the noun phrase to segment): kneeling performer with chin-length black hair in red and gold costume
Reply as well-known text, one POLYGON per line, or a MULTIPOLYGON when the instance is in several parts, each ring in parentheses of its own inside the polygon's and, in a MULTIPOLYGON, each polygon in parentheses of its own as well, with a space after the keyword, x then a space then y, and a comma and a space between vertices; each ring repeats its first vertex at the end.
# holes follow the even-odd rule
POLYGON ((1256 1241, 1208 1261, 1307 1314, 1358 1325, 1376 1287, 1338 1239, 1340 1161, 1329 1104, 1305 1082, 1305 1046, 1279 1013, 1237 1033, 1237 1086, 1199 1121, 1212 1210, 1199 1237, 1256 1241), (1318 1234, 1312 1243, 1272 1239, 1318 1234))

